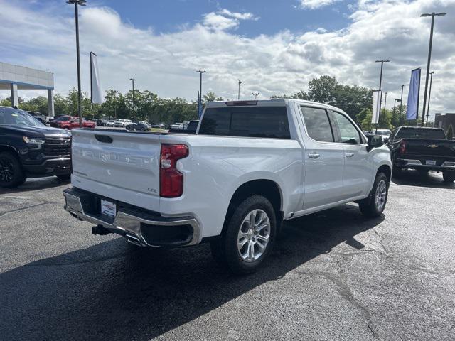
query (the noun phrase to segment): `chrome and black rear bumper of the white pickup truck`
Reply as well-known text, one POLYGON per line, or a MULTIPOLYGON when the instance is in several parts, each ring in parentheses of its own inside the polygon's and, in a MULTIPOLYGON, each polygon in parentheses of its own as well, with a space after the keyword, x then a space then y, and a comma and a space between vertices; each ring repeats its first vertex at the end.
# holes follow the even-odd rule
MULTIPOLYGON (((141 247, 177 247, 198 244, 201 239, 200 225, 193 217, 166 218, 151 213, 134 210, 134 208, 120 208, 114 218, 102 216, 93 212, 90 205, 91 200, 85 200, 91 193, 85 193, 75 188, 68 188, 63 191, 65 196, 65 210, 80 220, 91 222, 102 226, 109 232, 116 233, 127 238, 128 242, 141 247), (169 227, 188 229, 191 233, 184 234, 183 239, 167 239, 165 241, 151 238, 154 229, 169 227), (152 233, 151 233, 152 232, 152 233)), ((163 229, 161 229, 162 231, 163 229)))

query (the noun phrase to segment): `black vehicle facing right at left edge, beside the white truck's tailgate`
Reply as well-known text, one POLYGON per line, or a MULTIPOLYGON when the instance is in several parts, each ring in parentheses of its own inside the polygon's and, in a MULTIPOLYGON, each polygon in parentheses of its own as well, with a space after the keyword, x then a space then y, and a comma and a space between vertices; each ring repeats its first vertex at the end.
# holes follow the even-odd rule
POLYGON ((0 107, 0 188, 26 178, 71 174, 71 133, 45 126, 20 109, 0 107))

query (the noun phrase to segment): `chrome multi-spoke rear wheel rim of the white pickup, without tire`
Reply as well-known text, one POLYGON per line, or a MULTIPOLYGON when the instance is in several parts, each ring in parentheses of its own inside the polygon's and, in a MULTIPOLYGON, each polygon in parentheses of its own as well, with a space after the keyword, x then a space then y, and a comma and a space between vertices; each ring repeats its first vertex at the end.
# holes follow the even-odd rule
POLYGON ((237 249, 244 261, 256 261, 264 254, 270 239, 270 220, 263 210, 252 210, 240 224, 237 249))

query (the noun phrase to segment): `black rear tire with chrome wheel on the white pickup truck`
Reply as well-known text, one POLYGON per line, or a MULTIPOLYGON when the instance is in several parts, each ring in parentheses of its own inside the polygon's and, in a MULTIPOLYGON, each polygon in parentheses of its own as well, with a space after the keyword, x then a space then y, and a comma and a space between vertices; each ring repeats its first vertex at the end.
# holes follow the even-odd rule
POLYGON ((267 259, 274 244, 277 232, 277 218, 274 207, 262 195, 252 195, 235 207, 225 224, 223 236, 211 244, 213 257, 220 263, 227 264, 230 271, 235 274, 249 274, 256 271, 267 259), (254 228, 248 228, 248 232, 242 231, 245 233, 242 237, 245 242, 239 250, 237 242, 240 229, 251 226, 250 222, 246 221, 250 213, 254 215, 252 218, 255 220, 254 228), (261 222, 266 222, 266 224, 261 224, 261 222), (267 227, 258 229, 257 224, 260 226, 267 225, 267 227), (262 244, 265 237, 267 237, 267 242, 262 244), (252 253, 250 253, 250 245, 252 253), (247 254, 248 259, 241 256, 244 248, 244 256, 247 254), (255 252, 257 253, 255 254, 255 252), (254 259, 255 257, 252 257, 252 254, 257 256, 257 259, 254 259))

